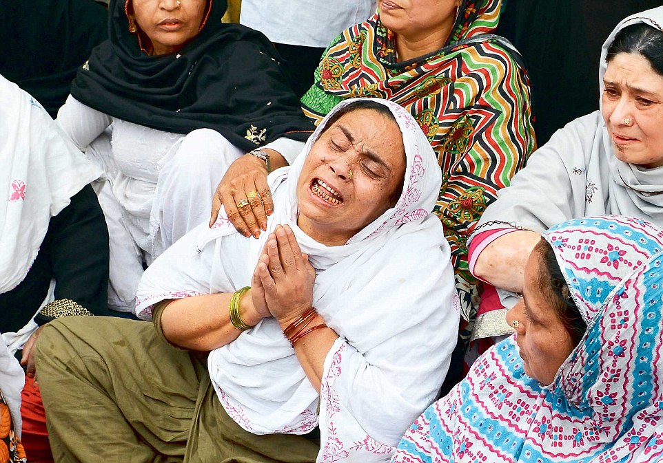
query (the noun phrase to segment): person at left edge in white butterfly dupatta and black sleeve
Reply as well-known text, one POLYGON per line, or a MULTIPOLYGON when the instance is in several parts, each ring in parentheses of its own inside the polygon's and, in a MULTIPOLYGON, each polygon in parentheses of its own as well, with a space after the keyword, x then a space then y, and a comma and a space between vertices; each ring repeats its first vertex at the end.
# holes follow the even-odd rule
POLYGON ((0 100, 0 455, 24 461, 16 442, 21 391, 31 405, 24 418, 29 435, 41 406, 32 384, 38 327, 80 314, 81 304, 92 312, 105 308, 108 231, 89 185, 101 171, 34 98, 2 76, 0 100), (14 357, 21 349, 27 385, 14 357), (15 427, 7 426, 8 415, 15 427))

